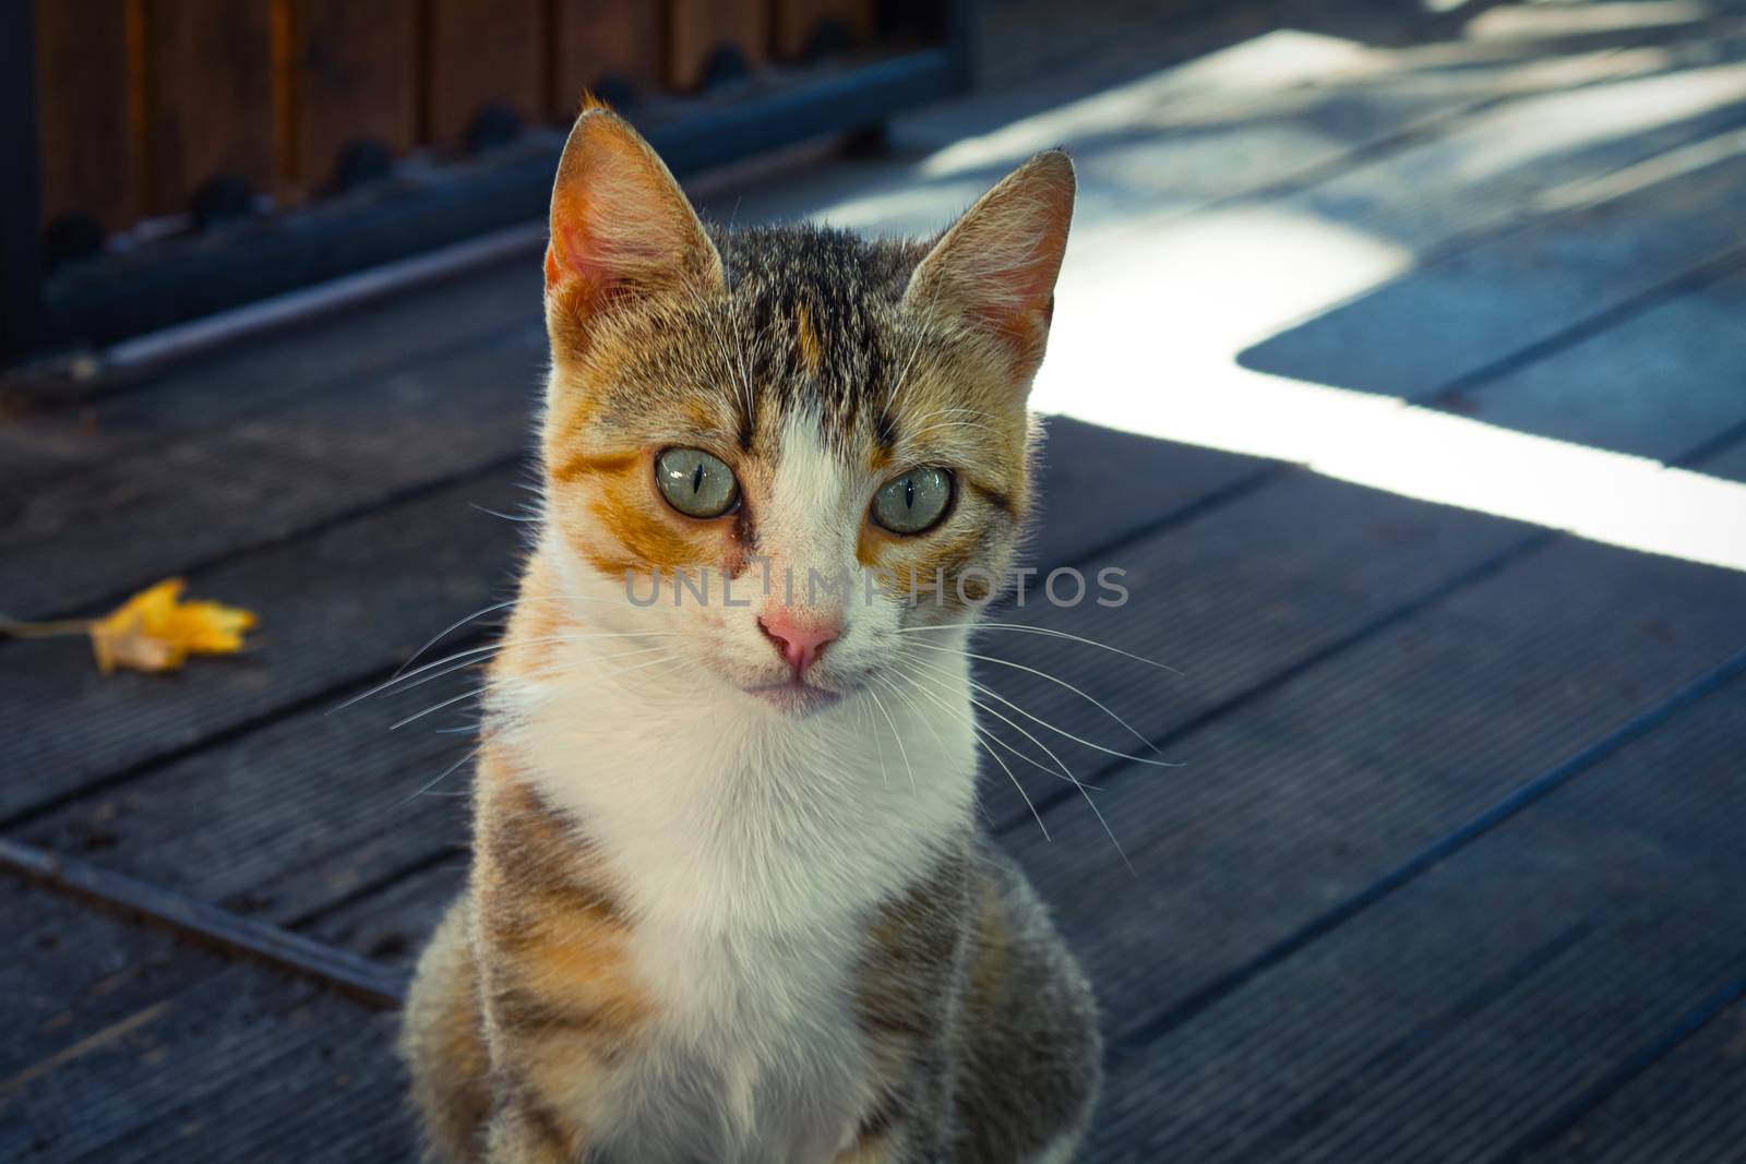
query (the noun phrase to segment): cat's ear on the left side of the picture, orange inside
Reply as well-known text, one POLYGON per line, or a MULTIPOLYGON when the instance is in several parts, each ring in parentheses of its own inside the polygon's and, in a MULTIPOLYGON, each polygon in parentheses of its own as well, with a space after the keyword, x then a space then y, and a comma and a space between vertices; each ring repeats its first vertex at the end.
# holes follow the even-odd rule
POLYGON ((583 110, 552 187, 548 311, 566 323, 681 290, 726 286, 721 255, 655 150, 608 108, 583 110))

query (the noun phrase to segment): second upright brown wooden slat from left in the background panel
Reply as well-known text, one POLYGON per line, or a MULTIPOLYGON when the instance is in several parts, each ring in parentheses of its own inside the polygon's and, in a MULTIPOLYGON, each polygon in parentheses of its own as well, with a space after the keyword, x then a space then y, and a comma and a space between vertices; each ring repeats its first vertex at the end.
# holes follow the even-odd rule
POLYGON ((274 176, 274 58, 265 3, 147 0, 147 213, 189 209, 210 178, 274 176))

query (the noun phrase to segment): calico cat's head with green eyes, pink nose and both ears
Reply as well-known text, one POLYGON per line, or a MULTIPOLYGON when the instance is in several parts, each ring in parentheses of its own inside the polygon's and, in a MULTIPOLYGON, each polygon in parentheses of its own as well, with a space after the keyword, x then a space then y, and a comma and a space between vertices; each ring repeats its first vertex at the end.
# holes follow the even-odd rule
POLYGON ((585 112, 552 197, 541 433, 578 621, 660 633, 784 712, 938 667, 910 646, 941 635, 906 632, 969 623, 1030 508, 1072 202, 1049 152, 931 243, 709 230, 629 124, 585 112))

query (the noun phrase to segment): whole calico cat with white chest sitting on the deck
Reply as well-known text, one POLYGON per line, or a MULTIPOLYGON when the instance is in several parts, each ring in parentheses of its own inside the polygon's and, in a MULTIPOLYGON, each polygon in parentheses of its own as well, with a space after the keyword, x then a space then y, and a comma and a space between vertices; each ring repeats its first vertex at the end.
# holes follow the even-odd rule
POLYGON ((976 824, 955 649, 1030 506, 1072 202, 1048 152, 932 244, 721 232, 576 122, 543 515, 402 1035, 431 1159, 1070 1159, 1091 991, 976 824))

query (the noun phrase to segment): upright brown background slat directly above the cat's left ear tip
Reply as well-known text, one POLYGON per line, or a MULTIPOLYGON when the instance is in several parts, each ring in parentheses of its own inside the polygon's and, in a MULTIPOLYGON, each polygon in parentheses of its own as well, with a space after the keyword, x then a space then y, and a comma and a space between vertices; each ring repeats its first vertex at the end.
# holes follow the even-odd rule
POLYGON ((567 122, 583 92, 651 96, 662 70, 662 10, 646 0, 555 0, 546 115, 567 122))

